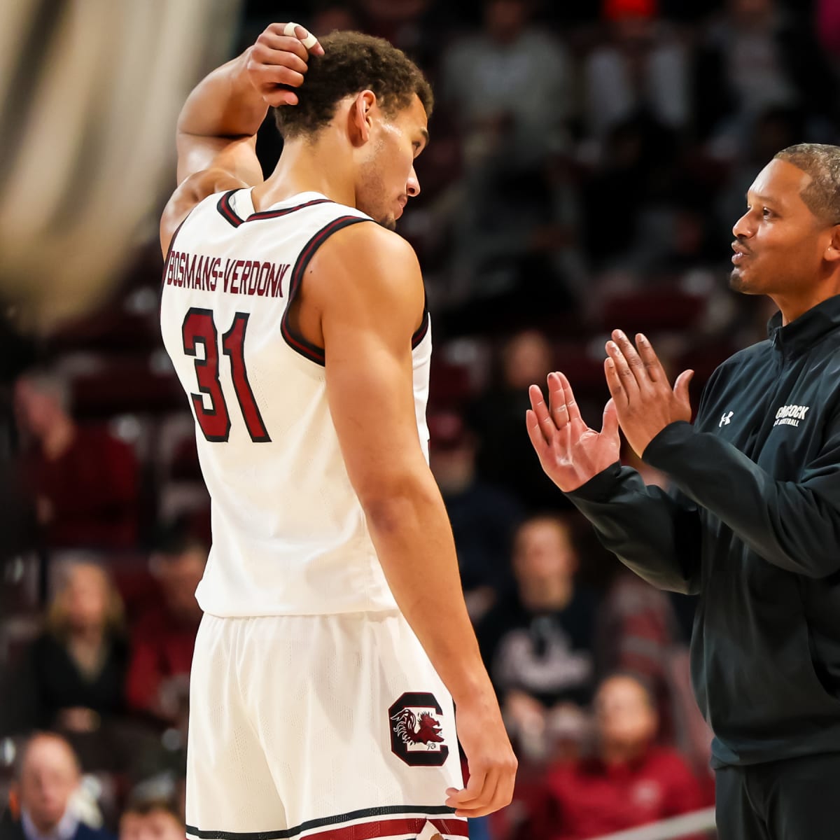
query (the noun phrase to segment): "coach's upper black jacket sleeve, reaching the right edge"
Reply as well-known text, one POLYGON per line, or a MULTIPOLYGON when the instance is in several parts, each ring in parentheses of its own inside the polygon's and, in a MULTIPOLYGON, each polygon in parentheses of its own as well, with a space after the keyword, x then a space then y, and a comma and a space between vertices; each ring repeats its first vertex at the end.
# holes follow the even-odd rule
POLYGON ((837 415, 797 482, 775 480, 732 444, 689 423, 666 426, 643 458, 768 563, 811 578, 840 570, 837 415))

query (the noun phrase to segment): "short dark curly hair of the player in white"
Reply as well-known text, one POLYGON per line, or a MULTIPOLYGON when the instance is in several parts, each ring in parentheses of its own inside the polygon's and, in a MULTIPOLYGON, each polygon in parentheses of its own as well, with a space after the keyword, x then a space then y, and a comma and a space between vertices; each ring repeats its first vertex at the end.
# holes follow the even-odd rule
POLYGON ((360 32, 333 32, 319 40, 324 54, 309 56, 303 85, 295 89, 297 105, 274 109, 283 139, 314 134, 329 123, 344 97, 365 90, 376 94, 388 116, 407 108, 415 94, 432 115, 432 88, 402 50, 360 32))

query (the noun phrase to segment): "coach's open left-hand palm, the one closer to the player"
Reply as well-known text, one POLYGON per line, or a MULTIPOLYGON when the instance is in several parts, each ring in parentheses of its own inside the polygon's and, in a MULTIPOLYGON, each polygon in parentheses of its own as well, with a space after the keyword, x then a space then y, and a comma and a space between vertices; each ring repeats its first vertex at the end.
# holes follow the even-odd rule
POLYGON ((548 402, 539 386, 528 390, 531 408, 525 423, 545 474, 560 490, 570 492, 618 460, 621 442, 616 407, 612 400, 606 403, 601 431, 596 432, 584 423, 569 380, 562 373, 549 373, 548 386, 548 402))

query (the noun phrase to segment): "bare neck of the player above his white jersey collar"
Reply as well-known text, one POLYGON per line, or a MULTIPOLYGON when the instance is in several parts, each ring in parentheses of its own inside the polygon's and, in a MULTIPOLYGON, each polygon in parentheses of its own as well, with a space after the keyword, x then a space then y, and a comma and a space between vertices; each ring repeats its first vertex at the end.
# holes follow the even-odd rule
POLYGON ((314 141, 286 144, 275 171, 251 193, 255 210, 265 210, 301 192, 319 192, 354 207, 354 160, 346 142, 324 132, 314 141))

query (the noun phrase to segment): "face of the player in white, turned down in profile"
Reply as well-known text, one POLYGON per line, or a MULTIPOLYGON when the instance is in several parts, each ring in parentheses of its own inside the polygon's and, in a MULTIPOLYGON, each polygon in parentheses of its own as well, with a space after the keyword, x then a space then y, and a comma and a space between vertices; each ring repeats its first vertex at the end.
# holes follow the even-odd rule
POLYGON ((409 198, 420 194, 414 160, 428 143, 426 110, 415 96, 393 116, 378 110, 370 128, 369 153, 360 167, 357 207, 393 230, 409 198))

